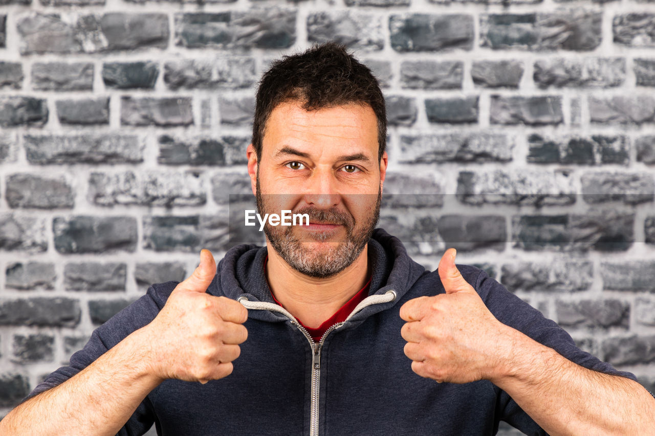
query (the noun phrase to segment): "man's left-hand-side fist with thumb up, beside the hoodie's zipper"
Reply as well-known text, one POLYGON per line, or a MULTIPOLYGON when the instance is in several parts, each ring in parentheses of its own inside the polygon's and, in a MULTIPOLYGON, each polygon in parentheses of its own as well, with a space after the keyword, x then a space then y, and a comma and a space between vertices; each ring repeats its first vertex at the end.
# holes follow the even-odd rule
POLYGON ((231 374, 232 361, 248 337, 248 310, 226 297, 206 293, 216 273, 214 256, 200 251, 200 264, 179 283, 145 329, 152 338, 151 368, 161 379, 206 383, 231 374))

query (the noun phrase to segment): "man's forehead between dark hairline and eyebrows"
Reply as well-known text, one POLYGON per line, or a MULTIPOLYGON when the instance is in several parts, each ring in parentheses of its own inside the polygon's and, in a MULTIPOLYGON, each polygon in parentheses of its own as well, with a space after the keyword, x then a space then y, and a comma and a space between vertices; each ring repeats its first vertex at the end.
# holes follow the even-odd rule
POLYGON ((369 105, 357 103, 310 111, 297 101, 280 103, 271 111, 262 142, 264 153, 285 145, 310 149, 350 145, 370 148, 377 155, 377 117, 369 105))

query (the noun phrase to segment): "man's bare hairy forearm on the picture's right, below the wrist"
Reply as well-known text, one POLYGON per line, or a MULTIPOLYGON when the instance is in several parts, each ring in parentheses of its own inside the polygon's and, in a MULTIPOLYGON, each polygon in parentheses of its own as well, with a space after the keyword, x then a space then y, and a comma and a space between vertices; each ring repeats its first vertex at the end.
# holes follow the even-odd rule
POLYGON ((637 382, 576 365, 514 329, 508 336, 512 357, 492 381, 550 435, 655 435, 655 399, 637 382))

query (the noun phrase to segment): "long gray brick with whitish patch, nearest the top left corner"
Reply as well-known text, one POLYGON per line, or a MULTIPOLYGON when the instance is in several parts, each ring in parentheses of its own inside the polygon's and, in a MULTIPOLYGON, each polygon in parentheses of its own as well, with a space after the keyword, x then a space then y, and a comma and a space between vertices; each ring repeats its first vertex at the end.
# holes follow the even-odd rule
POLYGON ((73 23, 59 14, 31 12, 16 20, 16 28, 22 54, 166 48, 169 38, 166 14, 109 12, 80 15, 73 23))

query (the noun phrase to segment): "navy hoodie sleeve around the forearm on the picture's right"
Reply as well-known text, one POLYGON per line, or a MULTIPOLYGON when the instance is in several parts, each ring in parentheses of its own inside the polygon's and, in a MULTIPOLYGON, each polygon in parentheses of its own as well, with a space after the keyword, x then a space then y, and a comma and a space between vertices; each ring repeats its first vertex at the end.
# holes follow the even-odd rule
MULTIPOLYGON (((637 377, 631 372, 618 371, 609 363, 580 350, 571 335, 555 321, 545 318, 541 312, 516 297, 506 287, 490 278, 486 272, 479 273, 476 289, 498 321, 521 331, 540 344, 553 348, 582 367, 637 381, 637 377)), ((515 403, 512 397, 500 388, 496 387, 496 390, 498 391, 496 405, 500 420, 508 422, 527 435, 546 435, 546 432, 515 403)))

